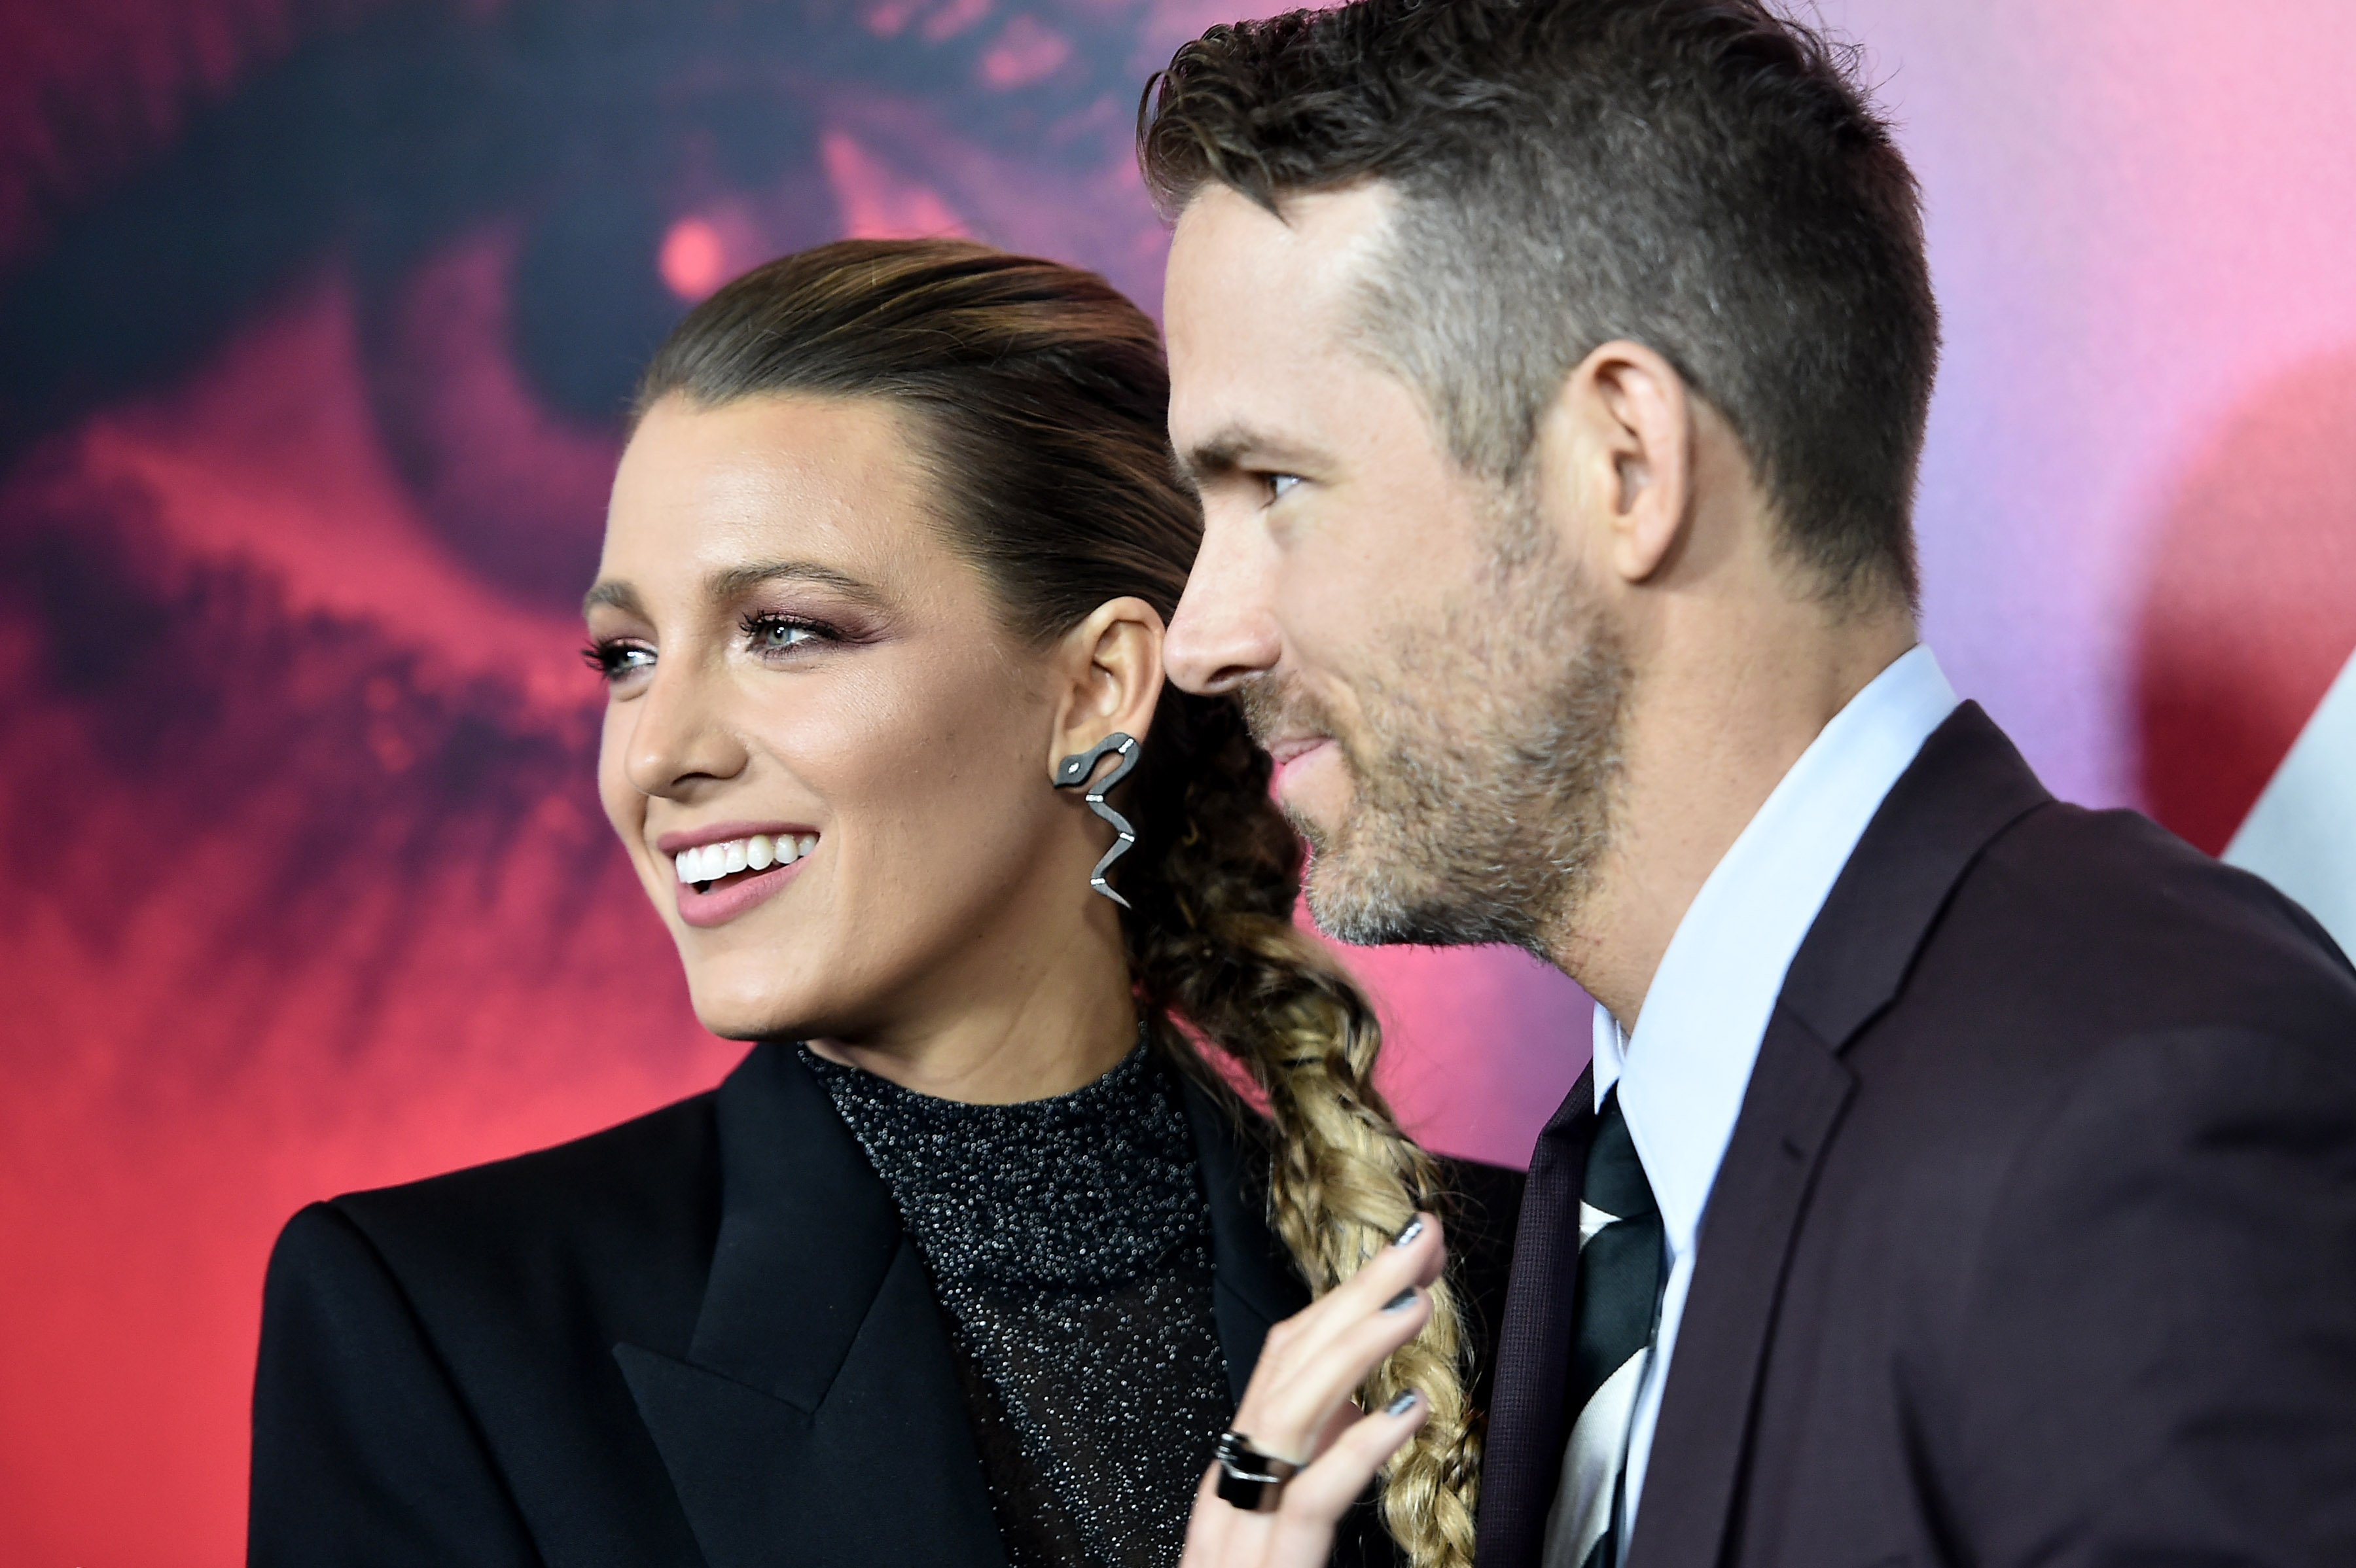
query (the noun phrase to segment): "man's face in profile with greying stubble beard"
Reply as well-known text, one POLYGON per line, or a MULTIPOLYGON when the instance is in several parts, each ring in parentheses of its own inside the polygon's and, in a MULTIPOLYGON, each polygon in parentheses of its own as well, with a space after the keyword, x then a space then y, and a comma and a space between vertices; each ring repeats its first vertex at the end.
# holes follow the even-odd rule
POLYGON ((1211 186, 1171 242, 1171 438, 1204 544, 1169 636, 1235 690, 1345 942, 1546 946, 1604 845, 1619 638, 1527 485, 1468 473, 1378 356, 1383 186, 1211 186))

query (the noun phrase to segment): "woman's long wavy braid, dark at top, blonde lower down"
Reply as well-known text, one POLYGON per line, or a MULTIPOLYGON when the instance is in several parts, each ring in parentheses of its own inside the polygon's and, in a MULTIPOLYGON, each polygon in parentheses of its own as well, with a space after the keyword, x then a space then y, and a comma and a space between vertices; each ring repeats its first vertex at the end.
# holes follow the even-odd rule
MULTIPOLYGON (((1268 753, 1232 702, 1166 692, 1133 786, 1147 836, 1117 881, 1136 904, 1124 923, 1131 968, 1162 1043, 1211 1081, 1190 1034, 1202 1038, 1265 1099, 1270 1222, 1324 1295, 1442 1194, 1430 1156, 1374 1085, 1374 1005, 1293 925, 1301 841, 1270 803, 1268 777, 1268 753)), ((1428 1401, 1423 1427, 1383 1471, 1383 1521, 1416 1568, 1463 1568, 1480 1439, 1456 1295, 1444 1278, 1430 1295, 1423 1333, 1376 1370, 1364 1401, 1381 1408, 1409 1387, 1428 1401)))

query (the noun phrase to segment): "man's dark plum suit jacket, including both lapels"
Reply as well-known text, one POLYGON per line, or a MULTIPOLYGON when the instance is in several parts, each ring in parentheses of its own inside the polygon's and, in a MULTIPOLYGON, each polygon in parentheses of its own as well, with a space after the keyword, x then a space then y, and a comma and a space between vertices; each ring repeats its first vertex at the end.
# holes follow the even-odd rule
MULTIPOLYGON (((1482 1568, 1538 1561, 1593 1123, 1583 1081, 1522 1205, 1482 1568)), ((2356 1563, 2330 937, 2132 812, 2054 803, 1958 709, 1783 979, 1623 1561, 2356 1563)))

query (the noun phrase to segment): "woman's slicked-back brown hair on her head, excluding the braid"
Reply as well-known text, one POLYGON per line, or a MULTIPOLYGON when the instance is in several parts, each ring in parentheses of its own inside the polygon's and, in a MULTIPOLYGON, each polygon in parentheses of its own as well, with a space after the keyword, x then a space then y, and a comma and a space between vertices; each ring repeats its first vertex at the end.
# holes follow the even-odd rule
POLYGON ((1166 476, 1162 339, 1096 273, 964 240, 820 245, 702 301, 636 410, 792 393, 916 417, 909 457, 954 497, 952 537, 1025 636, 1124 593, 1178 607, 1202 518, 1166 476))

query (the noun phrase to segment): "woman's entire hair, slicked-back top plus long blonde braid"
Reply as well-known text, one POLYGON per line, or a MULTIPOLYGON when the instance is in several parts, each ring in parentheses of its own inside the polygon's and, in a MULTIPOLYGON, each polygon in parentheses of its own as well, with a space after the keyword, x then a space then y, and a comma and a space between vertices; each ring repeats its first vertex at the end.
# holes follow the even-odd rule
MULTIPOLYGON (((949 539, 1023 636, 1051 643, 1131 593, 1176 612, 1202 516, 1171 476, 1162 339, 1096 273, 968 240, 820 245, 695 306, 636 407, 777 393, 907 412, 949 539)), ((1301 841, 1268 772, 1232 699, 1164 690, 1124 784, 1138 852, 1110 876, 1133 904, 1121 932, 1154 1038, 1239 1116, 1197 1041, 1268 1102, 1270 1224, 1322 1295, 1435 1208, 1440 1187, 1374 1088, 1374 1008, 1293 928, 1301 841)), ((1463 1316, 1440 1283, 1423 1333, 1364 1391, 1388 1403, 1414 1387, 1430 1403, 1383 1476, 1383 1519, 1416 1568, 1472 1561, 1480 1450, 1463 1354, 1463 1316)))

